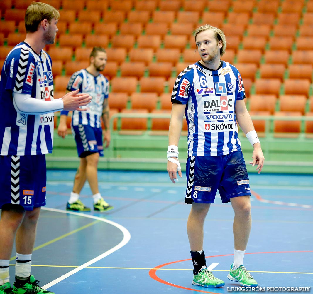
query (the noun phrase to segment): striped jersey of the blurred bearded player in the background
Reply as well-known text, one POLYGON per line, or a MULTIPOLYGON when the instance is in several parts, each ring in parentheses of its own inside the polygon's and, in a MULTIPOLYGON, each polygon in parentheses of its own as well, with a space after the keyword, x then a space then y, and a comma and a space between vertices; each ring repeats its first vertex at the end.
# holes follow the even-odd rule
MULTIPOLYGON (((88 110, 80 112, 73 111, 72 125, 89 125, 95 128, 101 128, 101 115, 103 110, 104 99, 109 97, 109 81, 103 74, 94 76, 85 69, 74 72, 69 79, 67 85, 68 91, 80 90, 80 93, 89 94, 92 99, 90 104, 81 108, 88 110)), ((61 111, 62 114, 67 115, 68 112, 61 111)))

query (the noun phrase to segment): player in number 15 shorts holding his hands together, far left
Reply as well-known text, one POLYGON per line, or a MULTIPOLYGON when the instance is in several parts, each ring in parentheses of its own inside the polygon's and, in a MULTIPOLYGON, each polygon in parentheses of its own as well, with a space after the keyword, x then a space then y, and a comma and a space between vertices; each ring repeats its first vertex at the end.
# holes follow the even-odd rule
POLYGON ((40 207, 46 203, 45 154, 52 152, 54 111, 80 111, 91 100, 78 90, 54 99, 52 61, 43 48, 54 43, 59 16, 48 4, 31 3, 25 13, 26 38, 9 52, 1 71, 0 294, 53 293, 39 287, 30 275, 40 207))

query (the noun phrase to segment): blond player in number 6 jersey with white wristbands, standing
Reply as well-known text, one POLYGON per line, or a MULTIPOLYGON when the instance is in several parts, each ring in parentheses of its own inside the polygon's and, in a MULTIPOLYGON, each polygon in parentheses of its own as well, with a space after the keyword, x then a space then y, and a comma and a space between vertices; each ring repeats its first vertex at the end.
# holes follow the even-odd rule
MULTIPOLYGON (((244 103, 240 73, 220 60, 226 48, 224 33, 203 25, 195 31, 195 42, 201 59, 185 68, 173 87, 167 150, 167 171, 175 183, 177 172, 182 177, 178 142, 185 115, 188 125, 185 202, 192 205, 187 221, 194 268, 192 284, 208 288, 225 285, 207 269, 203 252, 204 220, 218 191, 222 202, 230 202, 234 210, 234 260, 227 277, 241 286, 257 286, 243 265, 251 229, 251 193, 237 123, 253 146, 250 164, 257 165, 258 173, 264 165, 263 152, 244 103)), ((214 223, 210 227, 218 233, 214 223)))

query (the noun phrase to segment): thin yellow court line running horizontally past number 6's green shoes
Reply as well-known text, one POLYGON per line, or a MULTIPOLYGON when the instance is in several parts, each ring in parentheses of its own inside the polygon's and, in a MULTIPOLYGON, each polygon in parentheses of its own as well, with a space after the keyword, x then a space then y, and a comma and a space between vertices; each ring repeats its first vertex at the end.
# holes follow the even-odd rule
MULTIPOLYGON (((42 267, 73 267, 74 265, 32 265, 32 266, 42 266, 42 267)), ((115 269, 115 270, 192 270, 192 269, 155 269, 155 268, 145 268, 145 267, 110 267, 110 266, 86 266, 86 269, 115 269)), ((212 271, 229 271, 229 270, 212 270, 212 271)), ((264 270, 249 270, 251 273, 269 273, 269 274, 305 274, 313 275, 313 273, 305 272, 291 272, 291 271, 264 271, 264 270)))

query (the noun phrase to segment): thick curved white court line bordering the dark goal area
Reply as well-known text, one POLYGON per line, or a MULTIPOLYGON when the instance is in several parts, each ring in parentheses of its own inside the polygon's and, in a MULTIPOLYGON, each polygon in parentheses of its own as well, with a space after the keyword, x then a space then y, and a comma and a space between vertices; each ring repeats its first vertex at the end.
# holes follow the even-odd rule
POLYGON ((55 208, 48 208, 48 207, 42 207, 41 209, 42 210, 48 210, 48 211, 61 212, 61 213, 69 213, 69 214, 74 214, 74 215, 77 215, 77 216, 83 216, 83 217, 88 217, 88 218, 93 218, 95 220, 98 220, 98 221, 101 221, 101 222, 106 222, 106 223, 108 223, 108 224, 110 224, 110 225, 112 225, 114 227, 117 227, 123 233, 123 239, 122 239, 122 241, 119 244, 117 244, 116 246, 114 246, 110 250, 100 254, 99 256, 95 257, 94 259, 91 259, 90 261, 87 261, 83 265, 80 265, 79 267, 75 268, 74 270, 69 271, 65 275, 62 275, 59 278, 55 279, 54 281, 52 281, 52 282, 42 286, 44 289, 48 289, 49 287, 51 287, 51 286, 59 283, 60 281, 63 281, 64 279, 68 278, 69 276, 74 275, 75 273, 79 272, 80 270, 84 269, 85 267, 90 266, 93 263, 99 261, 100 259, 105 258, 106 256, 110 255, 111 253, 115 252, 116 250, 122 248, 131 239, 131 234, 128 232, 128 230, 125 227, 121 226, 120 224, 118 224, 116 222, 112 222, 112 221, 109 221, 107 219, 104 219, 102 217, 88 215, 88 214, 84 214, 84 213, 80 213, 80 212, 66 211, 66 210, 55 209, 55 208))

